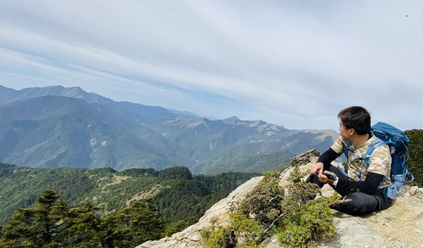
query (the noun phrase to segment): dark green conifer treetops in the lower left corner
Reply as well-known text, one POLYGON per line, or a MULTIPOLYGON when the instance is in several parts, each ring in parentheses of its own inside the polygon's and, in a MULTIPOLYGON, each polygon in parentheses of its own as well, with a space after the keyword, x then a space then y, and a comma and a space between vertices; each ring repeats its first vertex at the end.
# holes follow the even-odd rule
POLYGON ((164 235, 164 222, 152 202, 99 217, 87 202, 73 209, 58 192, 44 190, 34 207, 17 208, 1 229, 0 247, 135 247, 164 235))

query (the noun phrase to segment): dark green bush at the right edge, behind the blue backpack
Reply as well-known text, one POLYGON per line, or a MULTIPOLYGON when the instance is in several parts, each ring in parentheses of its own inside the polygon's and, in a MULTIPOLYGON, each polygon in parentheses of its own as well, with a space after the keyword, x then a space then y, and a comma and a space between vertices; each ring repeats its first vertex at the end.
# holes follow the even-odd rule
POLYGON ((423 130, 406 130, 405 135, 410 139, 408 169, 415 176, 415 180, 410 185, 423 187, 423 130))

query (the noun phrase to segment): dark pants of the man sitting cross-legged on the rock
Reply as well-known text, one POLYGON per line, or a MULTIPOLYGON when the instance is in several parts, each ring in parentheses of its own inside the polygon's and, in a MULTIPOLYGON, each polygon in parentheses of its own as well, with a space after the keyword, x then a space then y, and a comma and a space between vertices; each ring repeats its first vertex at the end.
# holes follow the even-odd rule
MULTIPOLYGON (((341 171, 339 171, 338 168, 335 166, 330 165, 329 171, 335 173, 338 178, 349 180, 349 178, 343 173, 341 173, 341 171)), ((319 185, 319 187, 323 187, 324 185, 323 182, 319 181, 319 177, 313 174, 309 175, 309 178, 307 178, 307 182, 316 183, 317 185, 319 185)), ((388 209, 388 207, 391 206, 392 203, 392 200, 388 197, 385 197, 384 194, 379 190, 376 190, 370 194, 366 194, 363 192, 351 192, 340 187, 333 187, 333 190, 336 190, 336 192, 341 194, 342 197, 345 197, 345 199, 351 199, 350 202, 338 204, 334 206, 333 209, 336 209, 343 213, 348 213, 353 216, 361 216, 366 213, 388 209)))

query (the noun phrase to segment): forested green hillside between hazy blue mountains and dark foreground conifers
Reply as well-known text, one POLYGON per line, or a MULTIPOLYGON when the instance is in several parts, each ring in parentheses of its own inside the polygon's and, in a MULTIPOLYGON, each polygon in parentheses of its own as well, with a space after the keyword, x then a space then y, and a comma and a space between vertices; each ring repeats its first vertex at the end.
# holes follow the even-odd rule
POLYGON ((101 207, 97 211, 101 216, 123 209, 133 200, 151 199, 169 232, 182 230, 255 175, 192 175, 185 167, 116 172, 111 168, 39 169, 0 163, 0 225, 10 220, 16 207, 33 206, 37 195, 53 189, 70 207, 85 202, 101 207))

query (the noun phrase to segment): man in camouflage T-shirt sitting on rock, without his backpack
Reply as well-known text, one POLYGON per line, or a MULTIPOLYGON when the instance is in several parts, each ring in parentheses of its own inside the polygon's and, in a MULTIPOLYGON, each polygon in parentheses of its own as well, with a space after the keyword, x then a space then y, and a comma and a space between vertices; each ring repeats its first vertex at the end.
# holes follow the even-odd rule
POLYGON ((386 144, 376 147, 370 156, 369 166, 366 166, 362 157, 369 144, 378 139, 370 132, 369 112, 360 106, 351 106, 339 112, 338 118, 341 135, 319 156, 307 182, 317 183, 319 187, 328 183, 344 199, 350 199, 336 206, 336 210, 343 213, 358 216, 387 209, 392 200, 385 197, 381 189, 391 185, 389 147, 386 144), (343 154, 345 141, 350 142, 348 175, 331 165, 333 160, 343 154))

